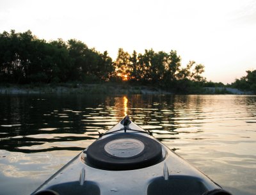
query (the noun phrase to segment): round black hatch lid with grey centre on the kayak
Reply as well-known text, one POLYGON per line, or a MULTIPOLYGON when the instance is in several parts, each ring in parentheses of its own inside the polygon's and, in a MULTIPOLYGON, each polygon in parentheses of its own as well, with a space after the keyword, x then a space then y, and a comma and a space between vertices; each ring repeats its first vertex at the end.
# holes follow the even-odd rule
POLYGON ((108 170, 145 168, 163 157, 161 144, 156 140, 127 132, 95 141, 86 153, 89 164, 108 170))

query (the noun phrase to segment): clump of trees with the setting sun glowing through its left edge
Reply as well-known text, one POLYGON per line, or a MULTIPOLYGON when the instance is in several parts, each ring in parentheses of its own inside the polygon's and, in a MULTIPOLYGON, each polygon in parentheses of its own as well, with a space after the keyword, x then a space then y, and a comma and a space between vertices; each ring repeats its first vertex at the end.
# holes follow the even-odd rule
POLYGON ((123 81, 157 84, 178 91, 186 91, 192 85, 197 86, 205 82, 205 78, 201 75, 204 72, 204 65, 189 61, 186 67, 182 67, 181 58, 176 51, 167 53, 146 49, 144 54, 133 51, 130 55, 119 49, 113 65, 115 79, 123 81))

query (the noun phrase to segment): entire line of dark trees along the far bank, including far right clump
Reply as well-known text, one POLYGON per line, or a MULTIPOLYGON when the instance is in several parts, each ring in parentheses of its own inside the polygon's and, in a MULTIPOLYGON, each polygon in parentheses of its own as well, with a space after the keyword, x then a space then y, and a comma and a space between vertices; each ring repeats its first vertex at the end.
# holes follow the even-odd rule
MULTIPOLYGON (((100 53, 76 39, 46 42, 31 31, 0 33, 0 82, 13 84, 60 82, 129 82, 149 84, 184 93, 200 93, 204 86, 224 86, 221 82, 206 82, 204 65, 189 61, 181 66, 176 51, 143 54, 118 50, 113 61, 105 51, 100 53)), ((255 88, 255 71, 237 79, 232 86, 255 88), (254 85, 253 85, 254 84, 254 85), (254 87, 253 87, 254 86, 254 87)))

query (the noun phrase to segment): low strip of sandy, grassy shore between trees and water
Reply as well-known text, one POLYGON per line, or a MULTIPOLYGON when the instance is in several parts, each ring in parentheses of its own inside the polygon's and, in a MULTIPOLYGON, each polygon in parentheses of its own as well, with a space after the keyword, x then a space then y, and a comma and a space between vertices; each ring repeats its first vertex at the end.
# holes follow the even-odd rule
MULTIPOLYGON (((6 84, 0 86, 0 94, 143 94, 143 95, 174 95, 172 91, 163 90, 154 86, 132 86, 131 84, 30 84, 13 85, 6 84)), ((183 94, 183 93, 181 93, 183 94)), ((252 95, 250 91, 240 91, 234 88, 202 88, 202 93, 186 94, 233 94, 233 95, 252 95)))

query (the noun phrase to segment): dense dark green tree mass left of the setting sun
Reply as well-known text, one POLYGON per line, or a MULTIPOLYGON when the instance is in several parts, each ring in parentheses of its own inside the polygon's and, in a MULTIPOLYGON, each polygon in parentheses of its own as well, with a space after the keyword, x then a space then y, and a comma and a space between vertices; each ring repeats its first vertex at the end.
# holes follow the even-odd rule
POLYGON ((47 43, 31 31, 0 33, 0 82, 107 81, 112 64, 108 52, 100 54, 74 39, 47 43))

